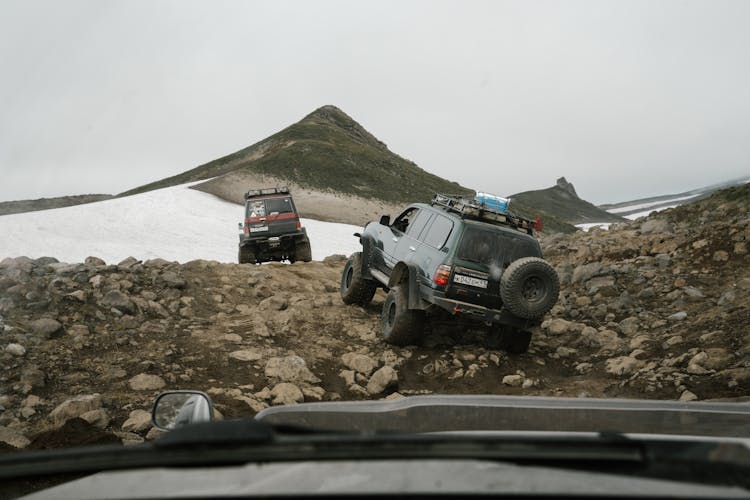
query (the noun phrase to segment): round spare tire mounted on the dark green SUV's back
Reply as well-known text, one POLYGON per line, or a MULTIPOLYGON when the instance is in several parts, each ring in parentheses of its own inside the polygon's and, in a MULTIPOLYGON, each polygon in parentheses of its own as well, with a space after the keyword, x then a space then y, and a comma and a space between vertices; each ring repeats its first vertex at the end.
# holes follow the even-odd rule
POLYGON ((557 302, 560 279, 551 265, 538 257, 515 260, 500 278, 500 297, 511 313, 539 319, 557 302))

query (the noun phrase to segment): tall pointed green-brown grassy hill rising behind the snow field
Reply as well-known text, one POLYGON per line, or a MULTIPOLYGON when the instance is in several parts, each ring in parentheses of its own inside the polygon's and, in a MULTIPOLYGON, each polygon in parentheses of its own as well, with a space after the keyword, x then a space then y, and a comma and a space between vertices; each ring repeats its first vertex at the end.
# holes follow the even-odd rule
POLYGON ((243 171, 392 203, 471 192, 391 152, 340 109, 323 106, 248 148, 122 195, 243 171))

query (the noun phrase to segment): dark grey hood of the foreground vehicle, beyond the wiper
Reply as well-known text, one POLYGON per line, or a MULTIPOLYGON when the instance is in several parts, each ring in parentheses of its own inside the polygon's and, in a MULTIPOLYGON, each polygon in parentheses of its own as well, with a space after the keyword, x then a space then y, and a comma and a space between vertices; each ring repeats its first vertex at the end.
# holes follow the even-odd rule
POLYGON ((267 408, 256 420, 329 431, 552 431, 750 438, 750 402, 412 396, 267 408))

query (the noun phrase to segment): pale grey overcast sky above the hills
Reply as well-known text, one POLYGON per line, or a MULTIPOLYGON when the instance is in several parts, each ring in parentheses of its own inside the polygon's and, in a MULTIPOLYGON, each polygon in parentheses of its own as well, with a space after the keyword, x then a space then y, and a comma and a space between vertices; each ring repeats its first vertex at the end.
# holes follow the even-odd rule
POLYGON ((334 104, 595 203, 750 176, 750 1, 0 0, 0 201, 118 193, 334 104))

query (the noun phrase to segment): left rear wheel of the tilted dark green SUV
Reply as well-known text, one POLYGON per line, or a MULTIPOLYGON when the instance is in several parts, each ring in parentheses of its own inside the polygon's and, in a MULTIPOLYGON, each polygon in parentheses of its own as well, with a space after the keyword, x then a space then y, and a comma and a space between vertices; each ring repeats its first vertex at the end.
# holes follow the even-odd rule
POLYGON ((389 344, 415 344, 424 328, 424 311, 409 309, 408 285, 400 283, 388 292, 380 316, 380 331, 389 344))

